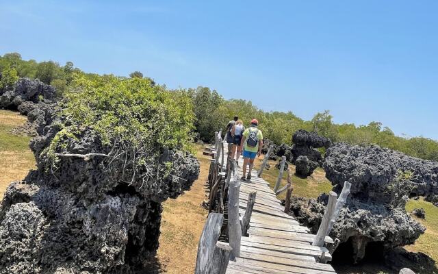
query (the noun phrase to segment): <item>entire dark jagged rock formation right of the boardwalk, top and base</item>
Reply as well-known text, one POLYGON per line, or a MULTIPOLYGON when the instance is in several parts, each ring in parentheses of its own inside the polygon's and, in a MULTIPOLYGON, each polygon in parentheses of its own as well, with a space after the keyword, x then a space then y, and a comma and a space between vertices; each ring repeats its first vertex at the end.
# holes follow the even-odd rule
MULTIPOLYGON (((413 244, 424 233, 404 206, 409 197, 437 195, 437 163, 377 146, 336 143, 327 149, 323 167, 338 195, 344 182, 352 184, 331 236, 352 246, 354 262, 363 259, 370 245, 389 252, 413 244)), ((316 232, 327 200, 327 195, 295 198, 292 211, 316 232)))

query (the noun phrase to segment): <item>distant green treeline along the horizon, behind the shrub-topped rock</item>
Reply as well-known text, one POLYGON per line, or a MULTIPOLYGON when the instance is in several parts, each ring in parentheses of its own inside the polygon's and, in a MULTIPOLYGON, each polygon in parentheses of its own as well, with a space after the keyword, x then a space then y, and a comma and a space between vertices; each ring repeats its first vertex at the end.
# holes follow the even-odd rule
MULTIPOLYGON (((74 89, 75 77, 83 77, 91 81, 101 81, 113 75, 98 75, 84 73, 74 67, 73 62, 66 62, 61 66, 57 62, 36 62, 22 60, 19 53, 6 53, 0 57, 0 72, 2 86, 12 84, 18 77, 38 78, 42 82, 51 84, 57 89, 57 96, 62 97, 64 92, 74 89)), ((131 78, 144 78, 142 73, 135 71, 131 78)), ((123 79, 124 77, 118 77, 123 79)), ((147 77, 146 77, 147 78, 147 77)), ((153 79, 147 78, 155 85, 153 79)), ((166 88, 162 86, 162 88, 166 88)), ((250 119, 257 118, 260 122, 263 136, 276 144, 292 143, 292 134, 298 129, 314 131, 322 136, 331 138, 334 142, 348 142, 354 145, 376 144, 381 147, 402 151, 408 155, 426 160, 438 161, 438 142, 424 137, 403 138, 396 136, 389 127, 382 127, 380 122, 371 122, 368 125, 333 123, 333 117, 326 110, 317 113, 311 121, 300 119, 292 112, 265 112, 259 110, 250 101, 242 99, 225 100, 216 90, 205 87, 177 90, 181 95, 192 100, 195 115, 194 136, 198 140, 209 141, 213 138, 212 132, 224 128, 234 115, 237 115, 248 125, 250 119)))

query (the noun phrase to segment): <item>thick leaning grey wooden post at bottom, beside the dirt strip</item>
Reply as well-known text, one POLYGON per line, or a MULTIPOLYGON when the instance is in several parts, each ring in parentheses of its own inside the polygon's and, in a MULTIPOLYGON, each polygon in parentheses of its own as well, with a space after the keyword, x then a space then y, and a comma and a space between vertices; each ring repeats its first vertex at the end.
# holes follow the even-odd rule
POLYGON ((195 274, 205 274, 213 258, 216 249, 216 242, 220 235, 220 227, 222 227, 224 215, 218 213, 210 213, 207 222, 204 225, 201 238, 198 245, 198 256, 196 257, 195 274))

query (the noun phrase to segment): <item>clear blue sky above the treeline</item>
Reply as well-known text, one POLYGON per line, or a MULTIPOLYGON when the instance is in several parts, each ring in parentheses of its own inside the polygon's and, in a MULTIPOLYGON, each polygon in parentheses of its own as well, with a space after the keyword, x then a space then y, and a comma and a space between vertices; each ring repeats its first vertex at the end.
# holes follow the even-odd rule
POLYGON ((3 1, 0 54, 438 140, 438 1, 3 1))

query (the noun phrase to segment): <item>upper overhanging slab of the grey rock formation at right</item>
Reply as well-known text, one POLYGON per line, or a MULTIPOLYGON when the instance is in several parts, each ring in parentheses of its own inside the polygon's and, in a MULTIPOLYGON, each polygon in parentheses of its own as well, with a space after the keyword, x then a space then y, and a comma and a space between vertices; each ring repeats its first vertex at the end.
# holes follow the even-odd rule
POLYGON ((326 177, 338 188, 348 181, 351 194, 363 201, 389 203, 389 188, 398 171, 413 174, 410 197, 438 195, 438 162, 414 158, 376 145, 352 146, 345 143, 332 145, 324 160, 326 177))

